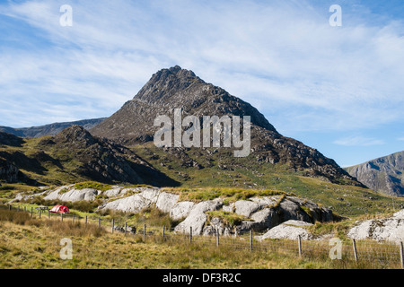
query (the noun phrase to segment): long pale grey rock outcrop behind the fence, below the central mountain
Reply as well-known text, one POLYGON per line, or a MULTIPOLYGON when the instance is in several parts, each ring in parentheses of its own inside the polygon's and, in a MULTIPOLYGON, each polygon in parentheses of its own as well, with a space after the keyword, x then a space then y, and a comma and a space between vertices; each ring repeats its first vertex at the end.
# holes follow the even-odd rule
MULTIPOLYGON (((37 195, 38 196, 38 195, 37 195)), ((166 192, 158 187, 112 187, 110 190, 92 188, 76 189, 75 185, 57 187, 40 194, 45 200, 60 202, 104 201, 99 211, 115 210, 125 213, 140 213, 145 208, 155 207, 170 214, 173 221, 180 222, 175 230, 181 233, 222 235, 248 230, 269 230, 290 220, 300 222, 329 222, 332 212, 324 207, 295 196, 254 196, 248 200, 238 200, 224 204, 224 198, 201 201, 180 201, 180 195, 166 192), (218 212, 214 215, 210 212, 218 212), (230 223, 225 216, 238 218, 230 223), (242 220, 240 220, 242 218, 242 220)), ((18 195, 15 200, 30 198, 18 195), (17 198, 18 197, 18 198, 17 198)))

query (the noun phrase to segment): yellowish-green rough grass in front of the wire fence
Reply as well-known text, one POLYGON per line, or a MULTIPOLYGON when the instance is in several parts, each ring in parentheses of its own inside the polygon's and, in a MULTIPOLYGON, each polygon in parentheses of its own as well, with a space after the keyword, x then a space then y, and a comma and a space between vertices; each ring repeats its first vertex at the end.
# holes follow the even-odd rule
POLYGON ((397 268, 372 262, 300 258, 285 252, 250 252, 161 237, 111 234, 93 224, 31 219, 29 213, 0 209, 2 269, 308 269, 397 268), (61 239, 71 239, 73 259, 60 258, 61 239))

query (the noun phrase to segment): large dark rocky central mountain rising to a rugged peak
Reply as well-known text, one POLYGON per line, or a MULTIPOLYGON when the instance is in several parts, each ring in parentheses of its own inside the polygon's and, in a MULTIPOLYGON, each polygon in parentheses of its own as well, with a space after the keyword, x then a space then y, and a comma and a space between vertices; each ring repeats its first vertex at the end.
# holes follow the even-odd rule
MULTIPOLYGON (((250 116, 251 120, 250 156, 237 163, 232 163, 233 156, 229 155, 228 149, 223 148, 215 152, 218 153, 216 157, 224 160, 225 164, 214 161, 206 149, 193 148, 200 152, 198 158, 205 159, 200 163, 197 162, 198 159, 192 159, 189 149, 171 148, 162 154, 166 159, 179 161, 179 165, 185 165, 189 170, 215 168, 218 165, 226 165, 233 170, 251 170, 253 163, 259 162, 266 166, 287 166, 289 170, 306 177, 326 178, 331 182, 361 186, 355 178, 321 152, 293 138, 280 135, 267 118, 248 102, 211 83, 205 83, 192 71, 181 69, 178 65, 153 74, 133 100, 127 101, 114 115, 90 129, 90 133, 126 146, 151 142, 157 130, 154 119, 159 115, 172 118, 174 109, 182 109, 182 118, 188 115, 200 119, 203 116, 250 116), (172 157, 172 154, 176 156, 172 157)), ((161 160, 154 158, 152 156, 148 159, 154 166, 162 164, 161 160)), ((215 172, 212 170, 212 173, 215 172)))

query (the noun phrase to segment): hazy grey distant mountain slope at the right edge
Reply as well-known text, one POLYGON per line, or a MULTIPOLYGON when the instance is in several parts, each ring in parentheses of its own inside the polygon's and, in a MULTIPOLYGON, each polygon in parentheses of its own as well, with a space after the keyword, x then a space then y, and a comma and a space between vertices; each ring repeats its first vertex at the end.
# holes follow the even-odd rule
POLYGON ((366 187, 377 192, 404 196, 404 152, 396 152, 346 170, 366 187))

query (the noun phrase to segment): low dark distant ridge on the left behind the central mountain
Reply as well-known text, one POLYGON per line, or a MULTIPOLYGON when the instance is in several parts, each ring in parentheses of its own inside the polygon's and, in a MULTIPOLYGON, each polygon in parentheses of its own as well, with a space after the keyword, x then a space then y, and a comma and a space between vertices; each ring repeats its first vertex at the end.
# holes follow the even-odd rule
POLYGON ((22 136, 22 137, 40 137, 44 135, 57 135, 66 127, 69 126, 83 126, 85 129, 90 129, 93 126, 100 124, 105 117, 83 119, 75 122, 66 123, 54 123, 45 126, 31 126, 31 127, 21 127, 13 128, 9 126, 0 126, 0 132, 5 132, 12 135, 22 136))

